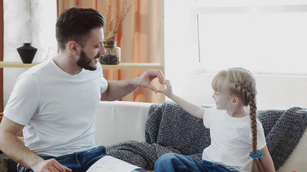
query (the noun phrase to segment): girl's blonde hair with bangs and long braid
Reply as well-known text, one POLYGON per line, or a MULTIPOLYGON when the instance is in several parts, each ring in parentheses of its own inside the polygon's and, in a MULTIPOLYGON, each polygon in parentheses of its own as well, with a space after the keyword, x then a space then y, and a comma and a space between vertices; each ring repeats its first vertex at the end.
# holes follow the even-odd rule
MULTIPOLYGON (((216 92, 223 92, 223 88, 230 94, 239 98, 240 103, 249 106, 252 131, 252 153, 257 152, 257 117, 256 117, 256 80, 253 74, 244 68, 229 68, 217 73, 212 81, 212 88, 216 92)), ((252 172, 262 172, 258 158, 253 159, 252 172)))

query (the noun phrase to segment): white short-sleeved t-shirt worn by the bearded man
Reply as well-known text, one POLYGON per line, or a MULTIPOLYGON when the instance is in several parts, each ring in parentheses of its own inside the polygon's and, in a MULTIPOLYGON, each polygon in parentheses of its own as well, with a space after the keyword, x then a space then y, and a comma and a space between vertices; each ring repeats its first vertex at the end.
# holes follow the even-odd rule
POLYGON ((19 76, 4 115, 25 126, 25 145, 38 155, 90 150, 96 147, 95 112, 107 86, 100 64, 70 75, 47 60, 19 76))

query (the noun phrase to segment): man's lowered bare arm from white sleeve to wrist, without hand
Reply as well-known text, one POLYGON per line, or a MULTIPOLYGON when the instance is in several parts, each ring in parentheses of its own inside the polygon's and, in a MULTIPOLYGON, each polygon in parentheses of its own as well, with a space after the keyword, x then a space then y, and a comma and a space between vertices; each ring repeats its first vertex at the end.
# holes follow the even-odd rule
POLYGON ((18 139, 17 135, 24 127, 4 116, 0 124, 0 150, 15 162, 32 169, 43 159, 18 139))

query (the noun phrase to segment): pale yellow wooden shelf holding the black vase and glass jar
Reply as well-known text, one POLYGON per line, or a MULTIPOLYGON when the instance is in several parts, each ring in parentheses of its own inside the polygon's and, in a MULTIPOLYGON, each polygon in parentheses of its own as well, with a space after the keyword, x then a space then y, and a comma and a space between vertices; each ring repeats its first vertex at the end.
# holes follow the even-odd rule
MULTIPOLYGON (((39 64, 33 62, 31 64, 24 64, 21 62, 2 62, 0 61, 0 68, 29 68, 39 64)), ((116 65, 101 64, 103 69, 161 69, 160 63, 120 63, 116 65)))

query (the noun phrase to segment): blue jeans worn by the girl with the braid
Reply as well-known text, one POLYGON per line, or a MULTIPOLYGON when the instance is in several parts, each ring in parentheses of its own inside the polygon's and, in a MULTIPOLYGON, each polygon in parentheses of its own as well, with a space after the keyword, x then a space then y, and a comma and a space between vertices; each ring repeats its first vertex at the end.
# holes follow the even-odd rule
POLYGON ((179 154, 164 154, 155 163, 155 172, 235 172, 221 164, 198 160, 179 154))

